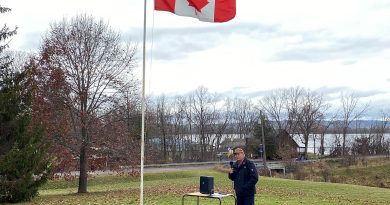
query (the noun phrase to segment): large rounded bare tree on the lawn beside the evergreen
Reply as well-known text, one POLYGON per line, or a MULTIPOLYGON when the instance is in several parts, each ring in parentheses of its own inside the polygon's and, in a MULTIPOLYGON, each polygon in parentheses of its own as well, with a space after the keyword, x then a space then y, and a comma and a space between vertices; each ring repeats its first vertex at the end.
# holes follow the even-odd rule
POLYGON ((123 44, 107 23, 86 14, 53 23, 43 39, 46 66, 63 71, 69 90, 63 97, 77 133, 79 193, 87 192, 90 126, 126 81, 135 66, 135 52, 136 47, 123 44))

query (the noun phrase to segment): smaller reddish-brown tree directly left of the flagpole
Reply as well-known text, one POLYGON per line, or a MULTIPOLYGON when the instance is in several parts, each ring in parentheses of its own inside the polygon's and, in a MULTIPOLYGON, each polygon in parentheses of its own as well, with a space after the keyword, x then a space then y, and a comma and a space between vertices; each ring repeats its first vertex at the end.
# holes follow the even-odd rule
POLYGON ((118 89, 114 104, 107 108, 106 113, 101 122, 104 127, 99 127, 101 138, 94 140, 96 146, 99 145, 107 158, 130 166, 133 173, 138 172, 140 158, 134 155, 140 151, 141 133, 141 98, 137 80, 133 79, 118 89))

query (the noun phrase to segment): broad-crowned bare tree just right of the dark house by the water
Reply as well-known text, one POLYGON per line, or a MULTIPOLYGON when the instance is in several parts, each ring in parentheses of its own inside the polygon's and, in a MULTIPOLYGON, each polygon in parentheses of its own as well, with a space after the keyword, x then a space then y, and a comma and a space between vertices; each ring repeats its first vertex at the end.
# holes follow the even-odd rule
POLYGON ((322 95, 301 87, 275 90, 260 102, 260 109, 274 122, 277 132, 301 134, 305 155, 309 136, 320 126, 327 108, 322 95))

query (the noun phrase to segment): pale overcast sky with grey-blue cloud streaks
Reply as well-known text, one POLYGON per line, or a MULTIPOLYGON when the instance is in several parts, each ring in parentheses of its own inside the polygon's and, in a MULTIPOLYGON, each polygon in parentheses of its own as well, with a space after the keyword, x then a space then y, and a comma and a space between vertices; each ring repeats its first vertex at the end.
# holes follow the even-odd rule
MULTIPOLYGON (((0 23, 19 27, 11 49, 34 51, 51 22, 87 13, 139 42, 141 73, 142 0, 1 2, 12 12, 0 23)), ((152 0, 147 9, 149 94, 202 85, 258 97, 302 86, 336 98, 354 92, 373 111, 390 107, 390 0, 237 0, 236 17, 222 24, 153 11, 152 0)))

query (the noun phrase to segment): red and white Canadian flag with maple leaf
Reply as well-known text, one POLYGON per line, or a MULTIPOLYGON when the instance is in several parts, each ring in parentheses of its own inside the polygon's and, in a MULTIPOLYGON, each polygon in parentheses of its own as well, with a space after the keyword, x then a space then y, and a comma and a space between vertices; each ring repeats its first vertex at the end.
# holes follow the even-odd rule
POLYGON ((236 16, 236 0, 154 0, 154 9, 207 22, 226 22, 236 16))

